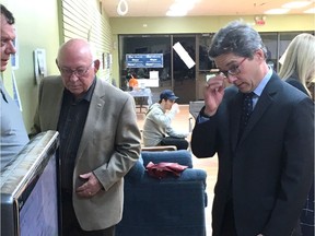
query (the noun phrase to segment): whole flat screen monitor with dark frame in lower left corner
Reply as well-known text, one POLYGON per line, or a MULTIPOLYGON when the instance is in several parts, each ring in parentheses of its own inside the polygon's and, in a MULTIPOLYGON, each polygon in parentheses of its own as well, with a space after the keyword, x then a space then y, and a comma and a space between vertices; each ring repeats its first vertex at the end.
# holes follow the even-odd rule
POLYGON ((59 235, 58 134, 51 132, 30 141, 1 172, 1 235, 59 235))

